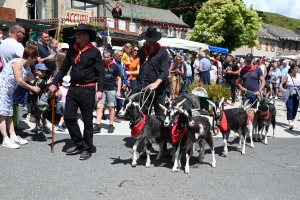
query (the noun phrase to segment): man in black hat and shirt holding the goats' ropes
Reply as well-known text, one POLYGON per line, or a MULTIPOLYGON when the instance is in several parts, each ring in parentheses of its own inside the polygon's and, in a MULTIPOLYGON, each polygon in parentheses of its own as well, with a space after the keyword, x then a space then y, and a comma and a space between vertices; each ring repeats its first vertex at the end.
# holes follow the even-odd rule
MULTIPOLYGON (((161 33, 155 28, 148 28, 146 32, 141 34, 146 40, 145 45, 139 50, 140 71, 138 76, 138 85, 136 92, 148 87, 152 92, 142 107, 144 114, 150 114, 151 107, 154 106, 155 115, 160 120, 164 120, 164 111, 159 104, 165 105, 166 93, 170 92, 168 81, 169 76, 169 57, 165 48, 157 43, 161 39, 161 33), (153 99, 153 102, 151 103, 153 99)), ((149 91, 145 94, 147 97, 149 91)), ((141 154, 144 155, 144 154, 141 154)), ((140 156, 143 158, 144 156, 140 156)))

